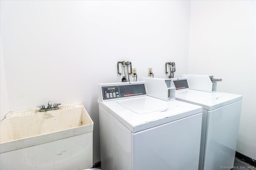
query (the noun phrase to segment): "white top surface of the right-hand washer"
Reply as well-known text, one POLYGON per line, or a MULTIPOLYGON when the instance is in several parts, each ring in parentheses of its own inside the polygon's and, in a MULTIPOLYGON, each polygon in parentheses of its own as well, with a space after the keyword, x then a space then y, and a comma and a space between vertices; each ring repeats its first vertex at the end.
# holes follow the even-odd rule
POLYGON ((241 95, 222 92, 203 92, 199 90, 176 91, 176 100, 202 106, 206 110, 214 110, 242 100, 241 95))

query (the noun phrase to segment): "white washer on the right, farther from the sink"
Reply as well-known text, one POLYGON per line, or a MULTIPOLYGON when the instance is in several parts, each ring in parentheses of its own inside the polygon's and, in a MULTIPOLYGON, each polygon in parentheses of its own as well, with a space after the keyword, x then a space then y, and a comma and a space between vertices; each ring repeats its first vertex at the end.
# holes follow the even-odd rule
MULTIPOLYGON (((176 100, 203 107, 199 170, 231 169, 234 166, 236 143, 240 123, 242 96, 216 92, 213 76, 184 75, 173 78, 171 88, 176 89, 176 100), (189 83, 188 80, 189 79, 189 83), (189 87, 192 87, 192 90, 189 87), (202 91, 200 91, 202 90, 202 91)), ((161 79, 142 78, 155 95, 156 82, 161 79)), ((170 80, 170 79, 162 79, 170 80)), ((166 90, 166 89, 162 89, 166 90)))

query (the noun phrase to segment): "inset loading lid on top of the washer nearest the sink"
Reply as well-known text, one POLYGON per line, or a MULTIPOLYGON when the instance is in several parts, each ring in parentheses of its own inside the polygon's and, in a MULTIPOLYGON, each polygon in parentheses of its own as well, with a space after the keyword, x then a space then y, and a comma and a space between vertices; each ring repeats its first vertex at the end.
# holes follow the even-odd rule
POLYGON ((138 114, 150 113, 154 111, 161 112, 172 107, 178 107, 178 105, 173 106, 164 100, 157 100, 155 98, 139 98, 117 103, 138 114))

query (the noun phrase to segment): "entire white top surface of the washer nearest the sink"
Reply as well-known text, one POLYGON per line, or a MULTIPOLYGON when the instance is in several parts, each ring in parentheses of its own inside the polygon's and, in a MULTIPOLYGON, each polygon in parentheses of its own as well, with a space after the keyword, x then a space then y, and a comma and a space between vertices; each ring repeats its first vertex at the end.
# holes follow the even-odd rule
MULTIPOLYGON (((167 102, 150 96, 106 102, 98 99, 98 103, 133 133, 202 112, 201 106, 177 100, 167 102)), ((108 115, 100 107, 101 111, 108 115)))

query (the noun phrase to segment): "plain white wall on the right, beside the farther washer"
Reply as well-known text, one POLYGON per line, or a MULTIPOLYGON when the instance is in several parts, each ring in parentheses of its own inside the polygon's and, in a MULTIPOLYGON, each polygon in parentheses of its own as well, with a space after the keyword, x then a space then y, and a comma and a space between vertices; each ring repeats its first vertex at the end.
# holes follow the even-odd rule
MULTIPOLYGON (((256 1, 191 1, 189 74, 243 96, 237 151, 256 159, 256 1)), ((228 122, 227 122, 228 123, 228 122)))

